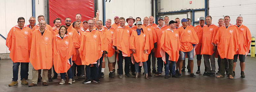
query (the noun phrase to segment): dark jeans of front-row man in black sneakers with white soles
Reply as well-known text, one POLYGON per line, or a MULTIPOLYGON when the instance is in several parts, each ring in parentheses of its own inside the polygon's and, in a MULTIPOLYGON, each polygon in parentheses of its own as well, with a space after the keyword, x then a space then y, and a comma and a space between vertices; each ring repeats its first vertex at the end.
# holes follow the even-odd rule
POLYGON ((98 79, 99 75, 99 61, 98 59, 96 62, 97 64, 93 64, 93 67, 91 67, 91 64, 85 66, 85 73, 86 73, 86 79, 91 80, 91 70, 92 70, 92 78, 98 79))

